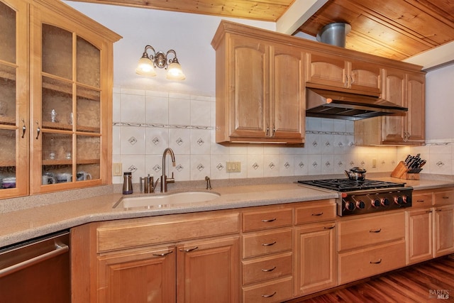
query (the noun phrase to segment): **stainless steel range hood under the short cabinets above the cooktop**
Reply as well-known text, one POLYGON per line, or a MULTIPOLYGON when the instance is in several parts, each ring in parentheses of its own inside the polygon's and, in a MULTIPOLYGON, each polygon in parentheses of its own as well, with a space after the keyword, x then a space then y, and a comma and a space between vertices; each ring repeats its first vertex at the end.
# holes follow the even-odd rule
POLYGON ((405 114, 407 108, 365 93, 306 88, 306 116, 360 120, 376 116, 405 114))

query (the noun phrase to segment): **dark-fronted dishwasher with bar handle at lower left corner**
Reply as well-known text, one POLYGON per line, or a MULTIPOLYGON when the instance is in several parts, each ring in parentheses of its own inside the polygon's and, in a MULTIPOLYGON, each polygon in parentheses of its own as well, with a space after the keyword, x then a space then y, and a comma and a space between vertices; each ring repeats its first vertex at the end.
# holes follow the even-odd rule
POLYGON ((71 302, 70 233, 0 249, 0 302, 71 302))

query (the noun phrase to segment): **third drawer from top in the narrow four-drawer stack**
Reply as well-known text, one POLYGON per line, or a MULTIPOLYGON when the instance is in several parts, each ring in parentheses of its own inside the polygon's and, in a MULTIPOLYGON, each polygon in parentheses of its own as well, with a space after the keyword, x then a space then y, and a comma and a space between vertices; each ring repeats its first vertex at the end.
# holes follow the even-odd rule
POLYGON ((292 275, 292 253, 243 261, 243 285, 292 275))

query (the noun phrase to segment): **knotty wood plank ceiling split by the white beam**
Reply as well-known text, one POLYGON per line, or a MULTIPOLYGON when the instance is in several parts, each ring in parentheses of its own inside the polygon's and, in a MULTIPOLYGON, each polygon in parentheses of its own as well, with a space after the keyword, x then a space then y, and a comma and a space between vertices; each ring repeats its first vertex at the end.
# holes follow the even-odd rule
MULTIPOLYGON (((294 0, 77 0, 276 22, 294 0)), ((302 13, 301 13, 302 14, 302 13)), ((454 0, 328 0, 299 31, 346 22, 345 47, 404 60, 454 40, 454 0)))

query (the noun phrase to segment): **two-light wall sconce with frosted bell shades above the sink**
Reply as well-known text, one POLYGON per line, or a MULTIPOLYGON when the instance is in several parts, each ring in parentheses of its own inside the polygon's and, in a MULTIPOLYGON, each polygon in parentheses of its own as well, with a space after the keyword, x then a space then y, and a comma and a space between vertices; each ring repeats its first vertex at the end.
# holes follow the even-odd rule
POLYGON ((135 73, 142 76, 155 77, 155 67, 165 68, 170 80, 184 80, 186 76, 183 73, 182 66, 179 65, 177 53, 175 50, 167 50, 167 53, 157 52, 151 45, 146 45, 143 50, 143 55, 140 57, 135 73), (150 50, 150 55, 148 55, 150 50), (173 55, 173 58, 169 56, 173 55))

